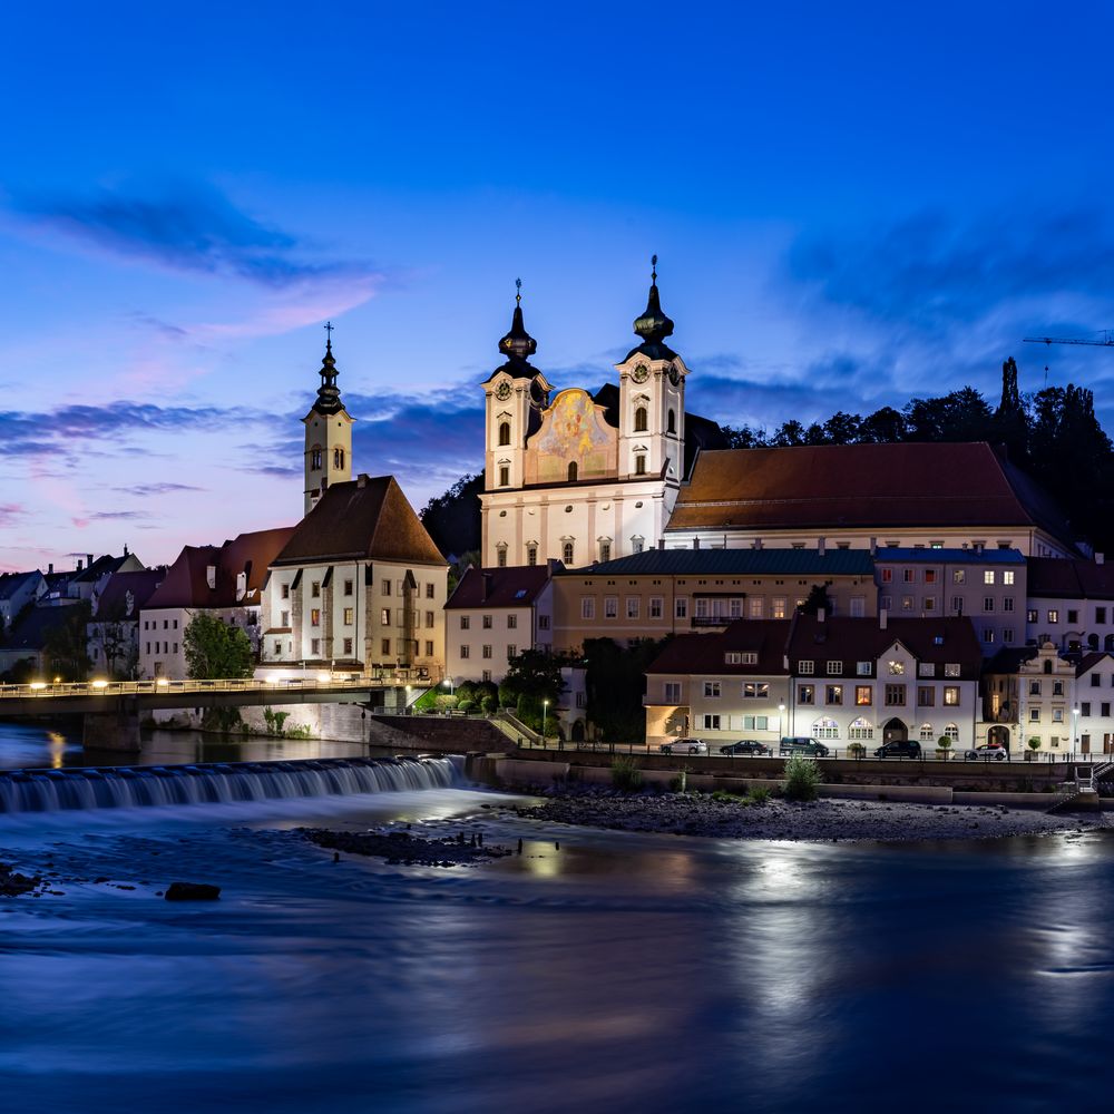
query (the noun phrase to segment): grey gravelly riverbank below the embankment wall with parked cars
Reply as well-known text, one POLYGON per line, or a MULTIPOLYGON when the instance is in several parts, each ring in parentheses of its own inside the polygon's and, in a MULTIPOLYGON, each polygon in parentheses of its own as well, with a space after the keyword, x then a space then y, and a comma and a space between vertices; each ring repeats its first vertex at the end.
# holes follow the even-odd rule
POLYGON ((744 803, 706 794, 607 790, 555 795, 512 812, 528 820, 619 831, 811 842, 997 839, 1104 827, 1102 814, 1048 815, 1007 808, 838 800, 744 803))

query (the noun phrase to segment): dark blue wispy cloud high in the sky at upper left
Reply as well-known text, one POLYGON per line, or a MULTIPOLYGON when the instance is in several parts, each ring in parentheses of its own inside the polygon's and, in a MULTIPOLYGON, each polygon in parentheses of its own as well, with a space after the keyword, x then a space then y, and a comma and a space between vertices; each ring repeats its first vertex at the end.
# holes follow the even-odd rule
POLYGON ((28 221, 104 251, 177 271, 231 275, 274 289, 382 278, 365 262, 314 257, 306 241, 198 183, 89 194, 17 192, 12 207, 28 221))

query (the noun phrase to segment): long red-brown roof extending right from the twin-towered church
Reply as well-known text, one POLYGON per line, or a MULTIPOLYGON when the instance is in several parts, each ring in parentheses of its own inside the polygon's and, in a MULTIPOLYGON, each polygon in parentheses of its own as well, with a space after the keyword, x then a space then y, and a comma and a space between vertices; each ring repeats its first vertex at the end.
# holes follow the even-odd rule
POLYGON ((1069 537, 1055 505, 985 441, 702 452, 667 531, 1033 527, 1069 537))

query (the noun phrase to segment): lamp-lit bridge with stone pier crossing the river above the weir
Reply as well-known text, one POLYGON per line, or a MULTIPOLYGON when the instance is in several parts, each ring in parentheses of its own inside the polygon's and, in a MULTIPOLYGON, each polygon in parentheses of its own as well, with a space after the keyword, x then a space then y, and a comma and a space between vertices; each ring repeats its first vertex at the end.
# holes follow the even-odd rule
POLYGON ((85 716, 85 745, 97 750, 138 751, 144 712, 179 707, 273 707, 280 704, 409 703, 404 690, 418 695, 432 682, 400 671, 378 676, 350 674, 214 681, 87 681, 51 684, 32 681, 0 685, 0 716, 85 716), (388 694, 391 700, 387 698, 388 694))

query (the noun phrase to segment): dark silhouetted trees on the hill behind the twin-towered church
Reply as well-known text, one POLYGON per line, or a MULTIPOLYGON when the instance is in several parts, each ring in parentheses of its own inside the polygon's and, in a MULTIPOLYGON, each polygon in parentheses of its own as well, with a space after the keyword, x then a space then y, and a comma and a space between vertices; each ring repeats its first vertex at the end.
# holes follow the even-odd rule
MULTIPOLYGON (((791 419, 773 432, 749 426, 722 428, 735 449, 900 441, 1000 444, 1009 460, 1055 499, 1071 525, 1069 540, 1114 551, 1114 448, 1095 417, 1093 393, 1068 384, 1022 394, 1013 359, 1003 364, 1001 379, 996 408, 974 388, 964 387, 939 398, 911 399, 900 410, 882 407, 866 417, 840 410, 809 426, 791 419)), ((443 554, 479 548, 482 490, 482 472, 463 476, 423 508, 422 521, 443 554)))

